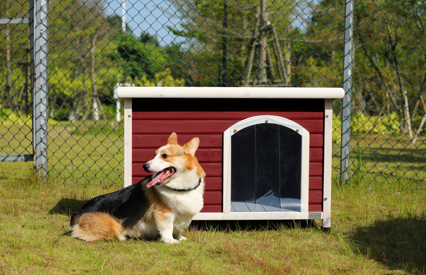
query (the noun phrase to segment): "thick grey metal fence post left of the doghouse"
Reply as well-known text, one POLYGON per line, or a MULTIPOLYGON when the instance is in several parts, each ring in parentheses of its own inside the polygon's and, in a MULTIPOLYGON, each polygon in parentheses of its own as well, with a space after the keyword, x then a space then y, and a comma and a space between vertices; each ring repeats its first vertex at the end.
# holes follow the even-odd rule
POLYGON ((48 3, 30 1, 33 152, 35 173, 47 179, 48 3))

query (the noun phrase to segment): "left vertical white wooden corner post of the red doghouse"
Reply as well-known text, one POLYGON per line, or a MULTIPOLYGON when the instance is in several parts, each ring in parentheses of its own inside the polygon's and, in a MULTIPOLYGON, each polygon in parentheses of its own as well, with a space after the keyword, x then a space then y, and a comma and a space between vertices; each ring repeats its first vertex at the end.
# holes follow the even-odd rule
POLYGON ((124 187, 132 185, 132 99, 124 98, 124 187))

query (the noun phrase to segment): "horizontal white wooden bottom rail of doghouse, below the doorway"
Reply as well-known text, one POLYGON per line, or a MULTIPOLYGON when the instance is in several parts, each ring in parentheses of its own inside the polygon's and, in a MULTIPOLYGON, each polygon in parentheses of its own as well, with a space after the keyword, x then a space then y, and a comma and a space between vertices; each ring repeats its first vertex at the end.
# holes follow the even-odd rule
POLYGON ((310 214, 315 214, 315 219, 323 218, 322 212, 230 212, 230 213, 197 213, 193 220, 308 220, 314 219, 310 214))

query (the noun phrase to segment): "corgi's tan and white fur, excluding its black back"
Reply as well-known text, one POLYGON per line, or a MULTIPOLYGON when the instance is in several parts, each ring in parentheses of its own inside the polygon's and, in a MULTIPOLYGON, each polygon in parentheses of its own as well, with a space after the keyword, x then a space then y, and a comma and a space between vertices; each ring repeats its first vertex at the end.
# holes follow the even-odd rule
MULTIPOLYGON (((174 167, 177 172, 161 184, 153 185, 153 181, 150 181, 153 178, 138 183, 150 184, 150 187, 142 187, 147 208, 139 215, 140 220, 130 220, 129 224, 126 218, 121 220, 122 218, 107 214, 113 213, 113 210, 108 210, 108 207, 103 209, 103 206, 98 210, 102 212, 83 213, 72 217, 72 236, 85 241, 161 237, 161 241, 167 244, 177 244, 185 240, 181 232, 188 228, 193 215, 203 207, 205 173, 194 156, 198 146, 199 138, 193 138, 181 147, 177 143, 176 133, 172 133, 167 145, 155 151, 155 158, 147 162, 147 167, 151 165, 151 168, 154 168, 144 167, 147 172, 158 173, 167 167, 174 167)), ((132 211, 131 206, 126 207, 132 211)))

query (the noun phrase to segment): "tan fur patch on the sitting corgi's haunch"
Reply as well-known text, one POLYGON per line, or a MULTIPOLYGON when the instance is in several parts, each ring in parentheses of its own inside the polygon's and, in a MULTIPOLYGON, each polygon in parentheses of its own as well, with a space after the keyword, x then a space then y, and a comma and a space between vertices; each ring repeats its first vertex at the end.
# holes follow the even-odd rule
POLYGON ((72 236, 84 241, 98 241, 116 238, 122 239, 123 226, 116 218, 101 212, 84 213, 78 219, 72 236))

